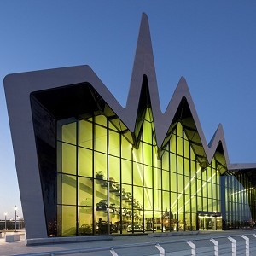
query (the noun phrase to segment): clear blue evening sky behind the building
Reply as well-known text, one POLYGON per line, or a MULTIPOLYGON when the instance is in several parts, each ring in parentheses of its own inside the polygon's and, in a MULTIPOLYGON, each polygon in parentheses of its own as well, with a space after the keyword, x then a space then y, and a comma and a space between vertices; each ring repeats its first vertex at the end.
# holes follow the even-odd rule
POLYGON ((4 76, 88 64, 125 106, 143 12, 162 111, 184 76, 207 142, 222 123, 230 162, 256 162, 255 1, 2 0, 0 219, 22 215, 4 76))

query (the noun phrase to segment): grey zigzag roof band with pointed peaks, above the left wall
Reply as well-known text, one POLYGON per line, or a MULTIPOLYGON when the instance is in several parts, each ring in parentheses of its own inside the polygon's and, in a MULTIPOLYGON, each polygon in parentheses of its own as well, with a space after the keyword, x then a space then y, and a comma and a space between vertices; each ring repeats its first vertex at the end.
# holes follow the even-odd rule
MULTIPOLYGON (((170 131, 170 127, 177 122, 177 111, 180 108, 181 102, 183 102, 185 105, 184 108, 189 112, 189 122, 186 123, 186 119, 183 119, 184 129, 187 131, 187 136, 192 145, 193 143, 195 144, 195 153, 201 158, 201 166, 207 166, 207 164, 212 161, 213 155, 219 151, 224 155, 224 162, 222 162, 222 164, 226 166, 228 170, 256 169, 256 164, 230 164, 224 139, 224 131, 221 124, 218 125, 210 143, 207 144, 188 85, 183 77, 177 84, 177 88, 166 108, 166 112, 161 112, 148 17, 145 14, 142 15, 135 61, 131 75, 130 91, 125 108, 119 104, 105 84, 96 76, 96 73, 87 65, 10 74, 4 79, 4 84, 7 100, 9 100, 10 95, 15 97, 17 93, 16 86, 18 84, 23 84, 22 94, 26 95, 30 94, 32 91, 52 89, 58 86, 84 82, 90 83, 119 119, 123 121, 126 127, 131 132, 134 132, 137 123, 140 93, 145 76, 148 81, 148 91, 154 116, 155 136, 159 148, 165 143, 166 135, 168 131, 170 131), (203 162, 205 162, 205 164, 203 164, 203 162)), ((24 96, 24 98, 26 98, 26 96, 24 96)), ((15 102, 16 106, 18 106, 17 101, 15 102)), ((8 104, 11 104, 11 100, 8 101, 8 104)), ((20 105, 22 104, 23 103, 20 103, 20 105)), ((10 112, 9 110, 9 118, 11 119, 10 112)), ((186 118, 188 119, 188 116, 186 116, 186 118)))

